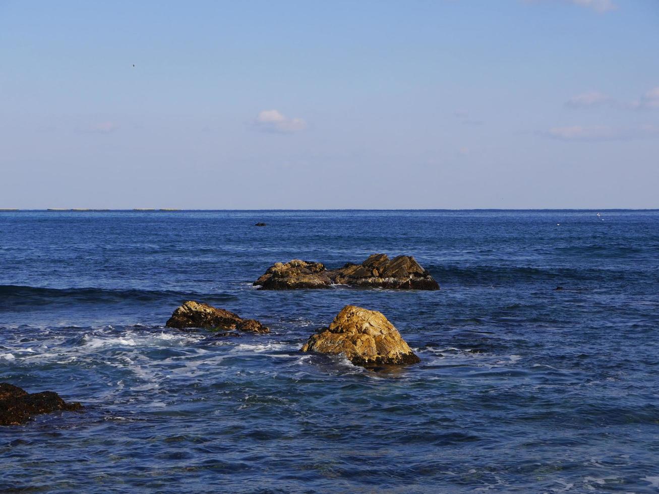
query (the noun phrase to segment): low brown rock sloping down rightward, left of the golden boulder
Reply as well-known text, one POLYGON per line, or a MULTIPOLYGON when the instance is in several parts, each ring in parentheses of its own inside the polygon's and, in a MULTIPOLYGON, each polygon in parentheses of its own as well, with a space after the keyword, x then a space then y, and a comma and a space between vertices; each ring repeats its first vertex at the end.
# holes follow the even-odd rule
POLYGON ((208 304, 188 300, 178 307, 165 323, 167 327, 183 329, 204 327, 209 329, 237 329, 251 333, 270 333, 270 329, 254 319, 243 319, 233 312, 217 309, 208 304))

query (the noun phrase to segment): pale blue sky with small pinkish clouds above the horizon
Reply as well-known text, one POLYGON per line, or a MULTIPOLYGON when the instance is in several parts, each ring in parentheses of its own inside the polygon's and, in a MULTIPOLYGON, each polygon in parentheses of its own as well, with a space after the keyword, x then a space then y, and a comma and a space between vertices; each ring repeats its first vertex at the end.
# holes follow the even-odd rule
POLYGON ((0 207, 659 207, 658 51, 656 0, 0 0, 0 207))

